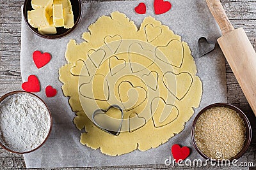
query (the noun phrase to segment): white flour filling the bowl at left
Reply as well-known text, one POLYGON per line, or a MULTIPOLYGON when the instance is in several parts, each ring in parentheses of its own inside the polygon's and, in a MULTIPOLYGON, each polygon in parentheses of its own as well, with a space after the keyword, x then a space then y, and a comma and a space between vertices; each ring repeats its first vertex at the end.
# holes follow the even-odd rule
POLYGON ((13 151, 28 152, 41 145, 50 125, 47 108, 33 96, 15 94, 0 105, 0 140, 13 151))

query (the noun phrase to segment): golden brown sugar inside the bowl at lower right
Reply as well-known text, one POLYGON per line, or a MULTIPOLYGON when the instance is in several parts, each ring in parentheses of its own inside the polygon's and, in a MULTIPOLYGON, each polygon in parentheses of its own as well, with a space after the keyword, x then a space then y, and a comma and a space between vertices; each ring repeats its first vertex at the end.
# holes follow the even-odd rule
POLYGON ((211 159, 231 159, 242 150, 245 139, 244 121, 230 108, 210 108, 196 121, 196 146, 211 159))

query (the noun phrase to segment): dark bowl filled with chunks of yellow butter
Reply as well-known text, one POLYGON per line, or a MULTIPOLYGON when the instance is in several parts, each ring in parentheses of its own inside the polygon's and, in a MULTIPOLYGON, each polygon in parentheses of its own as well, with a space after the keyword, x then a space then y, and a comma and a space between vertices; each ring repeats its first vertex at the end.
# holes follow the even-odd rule
POLYGON ((67 36, 81 20, 80 0, 25 0, 23 17, 36 35, 57 39, 67 36))

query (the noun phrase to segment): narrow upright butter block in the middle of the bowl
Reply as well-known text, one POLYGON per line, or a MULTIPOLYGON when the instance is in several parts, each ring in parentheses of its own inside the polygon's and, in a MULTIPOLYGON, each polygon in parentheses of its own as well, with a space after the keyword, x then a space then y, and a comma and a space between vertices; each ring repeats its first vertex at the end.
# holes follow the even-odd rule
POLYGON ((53 24, 55 27, 63 27, 64 26, 64 18, 63 18, 63 9, 62 4, 54 4, 53 5, 53 24))

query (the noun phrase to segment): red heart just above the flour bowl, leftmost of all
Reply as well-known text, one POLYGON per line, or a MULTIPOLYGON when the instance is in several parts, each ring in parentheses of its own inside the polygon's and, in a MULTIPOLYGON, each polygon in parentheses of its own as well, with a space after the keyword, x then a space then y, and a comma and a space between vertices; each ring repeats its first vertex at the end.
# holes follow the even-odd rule
POLYGON ((40 82, 35 75, 30 75, 28 81, 22 83, 21 87, 26 92, 40 92, 40 82))

